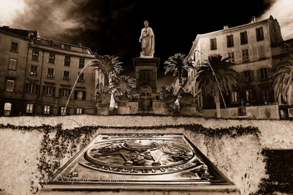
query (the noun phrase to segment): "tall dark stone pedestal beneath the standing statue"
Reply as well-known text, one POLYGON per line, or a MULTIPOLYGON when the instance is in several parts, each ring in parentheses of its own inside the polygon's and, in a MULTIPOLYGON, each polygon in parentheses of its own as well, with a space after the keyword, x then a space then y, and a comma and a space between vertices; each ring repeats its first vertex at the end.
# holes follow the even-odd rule
POLYGON ((139 91, 137 113, 154 114, 152 94, 157 92, 159 58, 134 58, 136 89, 139 91))

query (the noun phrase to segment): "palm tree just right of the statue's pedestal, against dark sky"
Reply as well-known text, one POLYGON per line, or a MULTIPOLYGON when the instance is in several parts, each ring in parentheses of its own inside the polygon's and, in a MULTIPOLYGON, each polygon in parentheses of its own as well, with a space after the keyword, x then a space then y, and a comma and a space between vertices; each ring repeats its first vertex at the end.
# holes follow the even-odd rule
POLYGON ((185 57, 184 54, 175 54, 174 56, 171 56, 167 61, 165 61, 166 66, 164 67, 166 69, 165 75, 168 72, 174 72, 173 76, 178 73, 179 77, 179 88, 182 87, 182 74, 183 70, 188 70, 188 68, 193 68, 193 65, 191 61, 189 60, 188 56, 185 57))

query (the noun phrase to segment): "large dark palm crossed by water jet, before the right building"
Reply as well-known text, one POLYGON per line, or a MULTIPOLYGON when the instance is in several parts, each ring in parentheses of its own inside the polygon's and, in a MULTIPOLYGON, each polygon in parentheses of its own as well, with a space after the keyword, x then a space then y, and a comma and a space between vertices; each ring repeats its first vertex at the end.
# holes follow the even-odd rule
POLYGON ((233 86, 236 86, 238 83, 238 72, 231 68, 233 65, 232 63, 226 62, 226 60, 230 58, 221 59, 222 56, 214 56, 205 60, 205 62, 201 63, 201 66, 197 68, 196 75, 198 88, 202 90, 203 94, 216 96, 217 117, 221 117, 219 88, 226 94, 229 94, 229 91, 233 90, 233 86))

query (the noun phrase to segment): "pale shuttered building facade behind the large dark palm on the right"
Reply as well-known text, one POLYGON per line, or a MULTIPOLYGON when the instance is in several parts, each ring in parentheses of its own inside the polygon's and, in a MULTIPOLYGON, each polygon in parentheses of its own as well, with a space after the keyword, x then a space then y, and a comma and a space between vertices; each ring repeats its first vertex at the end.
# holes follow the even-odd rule
MULTIPOLYGON (((194 95, 198 109, 215 109, 215 98, 203 97, 195 78, 196 67, 216 55, 222 56, 222 59, 230 58, 233 68, 239 73, 238 86, 229 94, 223 94, 227 107, 236 108, 230 109, 230 117, 248 114, 255 117, 256 111, 248 112, 248 107, 275 104, 270 78, 271 45, 282 40, 278 21, 272 17, 232 28, 225 26, 220 31, 197 35, 189 52, 194 69, 188 70, 188 89, 194 95)), ((224 108, 223 102, 221 108, 224 108)), ((262 112, 274 112, 271 115, 277 117, 276 111, 272 110, 268 108, 262 112)))

